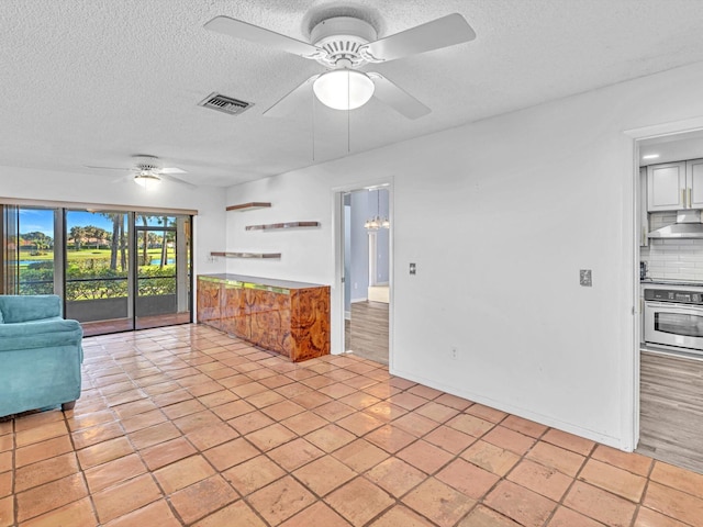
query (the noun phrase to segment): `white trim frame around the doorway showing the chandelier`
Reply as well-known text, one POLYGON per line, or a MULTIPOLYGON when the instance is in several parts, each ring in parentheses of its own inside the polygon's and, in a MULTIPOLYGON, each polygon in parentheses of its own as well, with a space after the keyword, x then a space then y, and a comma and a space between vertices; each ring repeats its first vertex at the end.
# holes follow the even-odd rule
POLYGON ((344 315, 345 315, 345 292, 344 292, 344 194, 357 191, 368 191, 369 188, 382 187, 388 190, 388 218, 390 228, 388 233, 388 287, 389 287, 389 306, 388 306, 388 367, 393 369, 394 363, 394 346, 393 346, 393 327, 394 327, 394 295, 395 287, 393 281, 394 267, 394 178, 393 176, 379 177, 362 182, 348 183, 345 186, 332 188, 332 233, 334 244, 334 287, 332 288, 332 352, 334 355, 343 354, 344 348, 344 315), (335 309, 336 307, 336 309, 335 309))

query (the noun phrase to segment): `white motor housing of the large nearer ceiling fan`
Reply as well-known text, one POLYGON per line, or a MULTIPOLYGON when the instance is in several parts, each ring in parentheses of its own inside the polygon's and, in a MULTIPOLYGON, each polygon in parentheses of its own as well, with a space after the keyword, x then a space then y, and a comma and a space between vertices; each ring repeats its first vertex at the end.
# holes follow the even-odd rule
POLYGON ((376 29, 368 22, 353 16, 334 16, 315 25, 312 44, 322 47, 327 56, 317 61, 327 68, 358 68, 367 63, 360 47, 377 40, 376 29))

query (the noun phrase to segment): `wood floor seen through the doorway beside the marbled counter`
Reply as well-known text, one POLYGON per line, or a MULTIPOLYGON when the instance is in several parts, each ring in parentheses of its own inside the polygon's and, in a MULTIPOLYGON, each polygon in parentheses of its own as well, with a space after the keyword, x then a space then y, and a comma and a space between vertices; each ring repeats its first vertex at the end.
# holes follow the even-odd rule
POLYGON ((354 302, 345 324, 346 350, 364 359, 388 365, 388 304, 354 302))

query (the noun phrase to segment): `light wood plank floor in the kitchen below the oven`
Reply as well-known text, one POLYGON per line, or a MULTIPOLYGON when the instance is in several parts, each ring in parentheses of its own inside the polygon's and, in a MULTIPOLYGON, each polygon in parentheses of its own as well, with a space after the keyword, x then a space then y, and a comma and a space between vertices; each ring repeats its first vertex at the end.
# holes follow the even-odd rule
POLYGON ((637 452, 703 473, 703 361, 641 352, 637 452))

